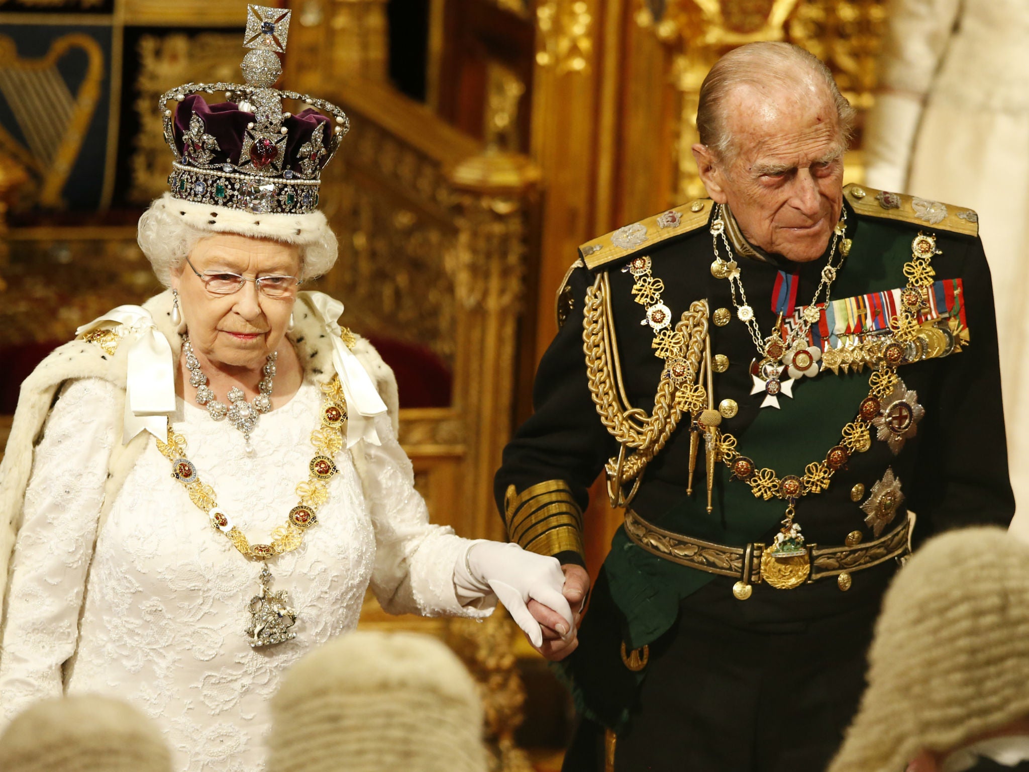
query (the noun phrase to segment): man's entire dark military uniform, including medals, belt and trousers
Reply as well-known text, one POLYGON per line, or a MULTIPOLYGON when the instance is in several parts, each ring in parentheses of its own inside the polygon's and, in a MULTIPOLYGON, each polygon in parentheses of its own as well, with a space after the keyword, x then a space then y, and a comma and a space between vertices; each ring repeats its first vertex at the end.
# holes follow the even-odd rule
POLYGON ((511 540, 563 563, 605 467, 626 507, 560 665, 582 716, 566 769, 602 768, 605 730, 619 771, 822 769, 909 543, 1009 522, 975 214, 853 185, 844 214, 808 264, 709 200, 580 247, 496 477, 511 540), (777 360, 773 329, 805 318, 777 360))

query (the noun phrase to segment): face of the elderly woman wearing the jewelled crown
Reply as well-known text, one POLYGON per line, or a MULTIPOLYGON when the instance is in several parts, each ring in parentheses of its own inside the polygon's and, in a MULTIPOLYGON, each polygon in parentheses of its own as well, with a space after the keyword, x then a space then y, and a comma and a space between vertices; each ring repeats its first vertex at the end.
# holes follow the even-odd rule
MULTIPOLYGON (((189 264, 202 276, 226 273, 254 279, 300 272, 296 246, 233 234, 202 239, 190 252, 189 264)), ((185 261, 172 275, 172 286, 179 291, 193 348, 212 362, 229 366, 261 366, 286 334, 296 301, 295 289, 283 297, 269 297, 252 281, 233 294, 214 294, 185 261)))

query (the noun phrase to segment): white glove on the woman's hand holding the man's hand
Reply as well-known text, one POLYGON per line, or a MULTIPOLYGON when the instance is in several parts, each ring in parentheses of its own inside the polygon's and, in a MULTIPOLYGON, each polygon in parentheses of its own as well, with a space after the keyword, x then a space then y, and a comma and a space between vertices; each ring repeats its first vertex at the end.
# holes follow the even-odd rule
POLYGON ((526 605, 530 598, 564 617, 571 631, 572 609, 561 594, 565 574, 557 558, 526 552, 516 543, 476 541, 465 562, 472 578, 489 586, 537 648, 543 644, 543 631, 526 605))

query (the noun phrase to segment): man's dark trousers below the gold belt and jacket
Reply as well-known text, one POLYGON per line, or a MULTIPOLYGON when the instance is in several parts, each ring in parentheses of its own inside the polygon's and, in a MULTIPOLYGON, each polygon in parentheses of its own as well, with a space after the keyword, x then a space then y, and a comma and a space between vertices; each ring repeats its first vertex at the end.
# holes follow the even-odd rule
MULTIPOLYGON (((650 646, 615 772, 823 772, 831 760, 864 689, 879 603, 838 598, 836 613, 781 622, 713 594, 724 592, 687 599, 650 646)), ((564 772, 603 770, 603 738, 580 722, 564 772)))

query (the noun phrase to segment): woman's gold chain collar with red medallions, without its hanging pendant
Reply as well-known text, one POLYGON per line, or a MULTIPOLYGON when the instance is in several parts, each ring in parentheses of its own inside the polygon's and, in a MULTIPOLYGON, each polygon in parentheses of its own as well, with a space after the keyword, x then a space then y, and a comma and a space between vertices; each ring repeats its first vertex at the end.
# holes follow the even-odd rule
POLYGON ((328 500, 327 481, 339 471, 332 457, 343 448, 347 426, 347 400, 338 376, 322 384, 321 426, 311 434, 315 456, 309 464, 310 477, 296 486, 299 502, 289 511, 286 522, 272 531, 269 543, 250 543, 243 531, 233 525, 228 516, 218 508, 214 489, 201 482, 192 461, 186 458, 186 441, 168 425, 168 441, 157 441, 157 450, 172 462, 172 477, 189 494, 189 499, 208 516, 211 527, 225 534, 233 546, 250 560, 268 560, 292 552, 304 541, 304 533, 318 522, 316 512, 328 500))

